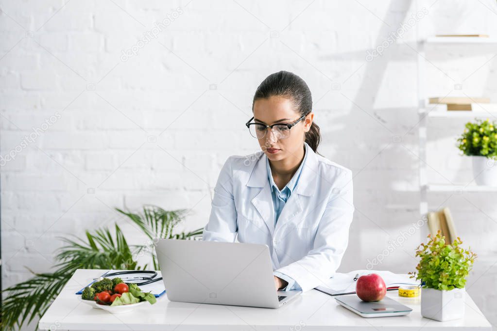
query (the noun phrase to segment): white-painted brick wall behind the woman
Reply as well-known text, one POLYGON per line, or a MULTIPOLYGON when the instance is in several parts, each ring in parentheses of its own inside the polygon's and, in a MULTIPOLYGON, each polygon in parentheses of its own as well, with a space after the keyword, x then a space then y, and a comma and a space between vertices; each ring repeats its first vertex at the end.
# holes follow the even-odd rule
MULTIPOLYGON (((281 69, 299 74, 313 92, 321 154, 354 171, 357 211, 340 269, 365 268, 419 219, 416 57, 405 42, 414 45, 416 29, 420 36, 497 37, 495 1, 420 0, 428 15, 367 62, 366 51, 416 11, 411 2, 1 1, 1 155, 61 114, 1 167, 3 284, 29 277, 24 266, 48 271, 57 236, 120 220, 109 207, 192 209, 184 226, 203 226, 209 185, 226 158, 258 149, 243 124, 257 85, 281 69), (123 50, 177 8, 182 13, 157 38, 122 60, 123 50)), ((462 83, 464 93, 497 102, 494 54, 431 52, 426 90, 457 95, 451 90, 462 83)), ((439 140, 430 141, 427 162, 469 181, 471 165, 453 147, 463 125, 430 123, 429 136, 439 140)), ((439 179, 434 171, 430 178, 439 179)), ((459 234, 480 256, 468 291, 493 324, 495 199, 430 195, 431 208, 452 208, 459 234)), ((416 230, 377 268, 413 271, 414 247, 425 234, 416 230)))

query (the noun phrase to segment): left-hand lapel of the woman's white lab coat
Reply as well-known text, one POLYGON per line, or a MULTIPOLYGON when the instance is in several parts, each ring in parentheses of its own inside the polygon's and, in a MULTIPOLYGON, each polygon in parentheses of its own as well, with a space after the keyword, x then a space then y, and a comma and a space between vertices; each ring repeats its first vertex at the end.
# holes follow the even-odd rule
POLYGON ((259 187, 260 191, 251 199, 252 205, 255 207, 260 217, 266 224, 271 236, 274 233, 274 206, 271 196, 271 187, 267 179, 267 156, 262 153, 262 157, 256 160, 247 186, 259 187))

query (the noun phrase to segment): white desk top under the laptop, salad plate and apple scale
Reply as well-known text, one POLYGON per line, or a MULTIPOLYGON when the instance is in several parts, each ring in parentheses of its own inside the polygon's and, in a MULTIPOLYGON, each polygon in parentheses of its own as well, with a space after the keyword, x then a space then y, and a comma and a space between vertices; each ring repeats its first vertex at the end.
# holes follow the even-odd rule
MULTIPOLYGON (((490 323, 466 296, 464 319, 436 322, 422 318, 420 299, 387 295, 413 308, 408 316, 362 318, 339 306, 332 296, 317 290, 303 293, 279 309, 171 302, 166 295, 154 305, 128 314, 112 315, 91 308, 74 293, 103 270, 78 270, 39 322, 41 330, 492 330, 490 323)), ((355 294, 353 294, 355 295, 355 294)))

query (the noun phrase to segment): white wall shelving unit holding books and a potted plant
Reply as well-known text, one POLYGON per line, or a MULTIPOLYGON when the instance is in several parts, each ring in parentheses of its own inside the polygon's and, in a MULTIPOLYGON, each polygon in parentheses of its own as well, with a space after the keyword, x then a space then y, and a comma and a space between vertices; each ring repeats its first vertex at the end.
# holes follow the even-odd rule
MULTIPOLYGON (((497 39, 481 37, 431 37, 421 40, 417 43, 417 96, 418 96, 418 137, 419 137, 419 157, 420 160, 426 159, 426 143, 428 137, 427 122, 430 118, 497 118, 497 112, 485 111, 447 111, 441 110, 439 106, 428 105, 428 95, 424 89, 426 81, 426 49, 428 47, 445 48, 445 47, 470 46, 472 50, 478 47, 488 49, 492 47, 497 51, 497 39), (431 107, 430 107, 431 106, 431 107), (437 109, 438 107, 438 109, 437 109)), ((497 192, 497 187, 467 185, 461 183, 458 185, 444 185, 428 182, 427 165, 419 162, 419 191, 420 203, 419 213, 421 216, 428 212, 428 192, 497 192)))

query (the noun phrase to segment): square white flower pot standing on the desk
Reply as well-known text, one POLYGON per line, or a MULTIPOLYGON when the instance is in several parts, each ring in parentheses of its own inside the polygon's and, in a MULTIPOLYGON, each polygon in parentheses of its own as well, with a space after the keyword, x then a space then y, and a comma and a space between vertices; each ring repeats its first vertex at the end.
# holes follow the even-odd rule
POLYGON ((462 319, 464 317, 465 294, 465 288, 442 291, 422 287, 421 316, 436 321, 462 319))

